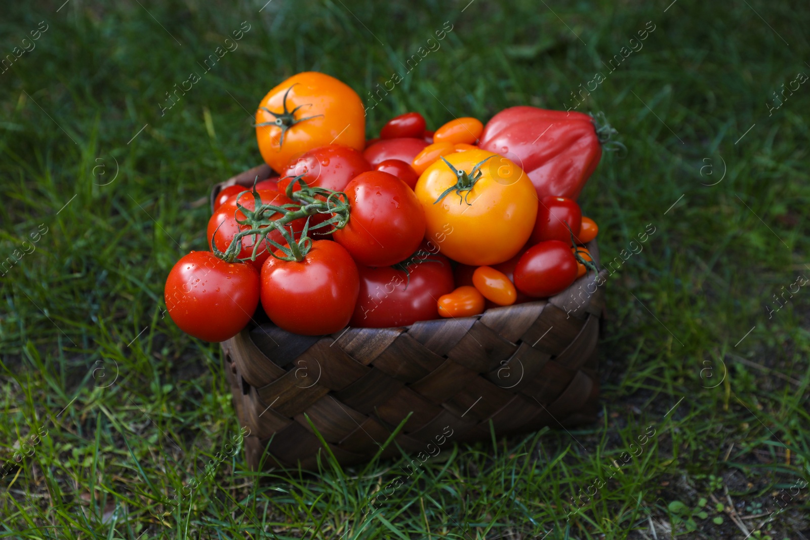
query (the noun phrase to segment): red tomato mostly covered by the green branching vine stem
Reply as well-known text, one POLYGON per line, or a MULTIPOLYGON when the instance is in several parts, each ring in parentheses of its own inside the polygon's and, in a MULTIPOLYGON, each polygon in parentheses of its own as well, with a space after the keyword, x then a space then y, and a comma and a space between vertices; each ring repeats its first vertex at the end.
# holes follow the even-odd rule
MULTIPOLYGON (((257 193, 259 197, 262 198, 262 202, 265 204, 273 204, 276 206, 292 204, 290 199, 286 198, 277 191, 262 190, 257 191, 257 193)), ((248 210, 254 210, 255 202, 253 195, 250 193, 245 193, 239 199, 239 204, 241 204, 241 206, 245 206, 245 208, 248 210)), ((208 220, 208 227, 206 230, 206 238, 209 246, 211 246, 211 237, 213 237, 216 248, 224 252, 226 249, 228 249, 228 245, 231 244, 233 237, 236 236, 238 232, 244 231, 248 228, 247 225, 239 225, 237 223, 237 213, 239 219, 245 219, 245 215, 243 215, 241 211, 237 209, 236 198, 232 198, 224 202, 224 204, 215 210, 214 214, 211 215, 211 219, 208 220), (215 232, 216 235, 214 234, 215 232)), ((280 218, 281 215, 276 214, 271 217, 273 219, 277 219, 280 218)), ((304 229, 305 223, 306 219, 296 219, 292 222, 292 228, 293 231, 296 232, 296 236, 300 236, 301 231, 304 229)), ((310 224, 311 223, 312 222, 310 221, 310 224)), ((284 237, 278 231, 271 232, 269 235, 267 235, 267 237, 270 240, 282 245, 286 243, 286 240, 284 240, 284 237)), ((255 236, 243 237, 242 249, 237 257, 241 259, 250 257, 253 254, 255 240, 255 236)), ((267 244, 264 241, 262 241, 262 245, 259 246, 257 253, 258 255, 256 256, 256 260, 250 261, 250 264, 255 266, 256 270, 262 267, 262 263, 267 257, 270 257, 270 253, 267 253, 267 244)))

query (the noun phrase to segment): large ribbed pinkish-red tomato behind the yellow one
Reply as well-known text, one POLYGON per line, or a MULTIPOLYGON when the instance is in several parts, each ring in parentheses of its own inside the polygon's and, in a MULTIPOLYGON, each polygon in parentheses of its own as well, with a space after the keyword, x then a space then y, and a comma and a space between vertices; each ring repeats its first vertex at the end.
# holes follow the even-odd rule
POLYGON ((497 113, 478 146, 514 159, 537 189, 537 197, 576 200, 602 157, 602 142, 615 133, 590 115, 521 105, 497 113))

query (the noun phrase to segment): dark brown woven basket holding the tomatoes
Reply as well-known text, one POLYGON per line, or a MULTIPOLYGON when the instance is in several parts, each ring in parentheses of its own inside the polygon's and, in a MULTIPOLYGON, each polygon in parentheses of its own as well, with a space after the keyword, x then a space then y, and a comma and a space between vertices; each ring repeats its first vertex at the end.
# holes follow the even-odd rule
MULTIPOLYGON (((266 165, 250 169, 216 185, 212 198, 270 174, 266 165)), ((596 242, 587 247, 599 266, 596 242)), ((221 344, 249 428, 249 465, 314 470, 325 445, 352 465, 400 455, 398 445, 427 455, 445 440, 488 439, 491 424, 501 436, 595 421, 603 291, 594 280, 589 273, 548 301, 476 317, 320 337, 279 329, 260 306, 221 344)))

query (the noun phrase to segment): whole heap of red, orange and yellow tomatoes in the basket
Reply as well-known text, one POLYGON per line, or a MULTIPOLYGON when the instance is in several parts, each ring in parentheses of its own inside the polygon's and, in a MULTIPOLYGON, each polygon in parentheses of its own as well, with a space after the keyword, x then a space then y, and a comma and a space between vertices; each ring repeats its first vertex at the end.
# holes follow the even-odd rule
POLYGON ((420 113, 365 139, 356 92, 296 74, 256 113, 277 174, 215 198, 210 250, 168 274, 173 321, 224 341, 261 303, 296 334, 470 317, 554 296, 595 270, 596 223, 575 201, 609 126, 582 113, 513 107, 484 125, 420 113))

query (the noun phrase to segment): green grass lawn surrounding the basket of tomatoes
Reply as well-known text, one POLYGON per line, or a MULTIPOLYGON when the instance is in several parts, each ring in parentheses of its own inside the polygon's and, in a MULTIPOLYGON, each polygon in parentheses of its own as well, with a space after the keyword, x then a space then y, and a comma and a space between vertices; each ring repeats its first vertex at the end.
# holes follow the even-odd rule
POLYGON ((16 2, 0 21, 2 55, 48 24, 0 74, 0 260, 37 239, 0 277, 0 457, 43 434, 0 480, 0 536, 653 538, 656 524, 657 538, 744 538, 717 510, 731 500, 750 538, 810 538, 794 487, 810 478, 810 291, 764 308, 810 270, 810 85, 766 105, 810 73, 806 2, 61 3, 16 2), (238 49, 200 73, 242 21, 238 49), (239 432, 220 349, 163 317, 162 291, 204 249, 211 184, 260 162, 248 112, 302 70, 366 98, 445 21, 369 137, 408 110, 435 127, 565 108, 606 75, 578 110, 604 111, 628 151, 603 158, 582 206, 604 261, 655 232, 606 285, 599 423, 450 440, 412 477, 404 461, 325 460, 258 481, 241 452, 207 475, 239 432), (647 21, 643 49, 609 72, 647 21), (751 517, 780 492, 773 519, 751 517))

